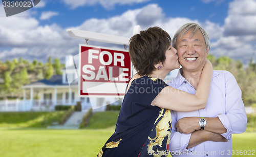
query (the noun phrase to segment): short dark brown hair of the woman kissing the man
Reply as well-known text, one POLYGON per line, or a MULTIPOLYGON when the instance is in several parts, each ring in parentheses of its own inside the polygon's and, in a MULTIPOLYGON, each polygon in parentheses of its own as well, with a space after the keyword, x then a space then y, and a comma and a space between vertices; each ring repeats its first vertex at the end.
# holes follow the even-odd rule
POLYGON ((156 69, 154 65, 165 61, 165 52, 170 43, 169 34, 159 27, 147 28, 131 37, 129 54, 138 74, 152 74, 156 69))

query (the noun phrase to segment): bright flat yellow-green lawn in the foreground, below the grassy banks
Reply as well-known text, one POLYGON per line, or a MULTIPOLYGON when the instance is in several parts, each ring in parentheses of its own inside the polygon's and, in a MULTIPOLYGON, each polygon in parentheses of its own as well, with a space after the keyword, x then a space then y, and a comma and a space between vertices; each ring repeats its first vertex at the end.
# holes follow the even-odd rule
MULTIPOLYGON (((114 129, 0 129, 0 156, 96 156, 114 129)), ((256 133, 233 134, 234 150, 255 150, 256 133)), ((233 155, 245 156, 245 155, 233 155)))

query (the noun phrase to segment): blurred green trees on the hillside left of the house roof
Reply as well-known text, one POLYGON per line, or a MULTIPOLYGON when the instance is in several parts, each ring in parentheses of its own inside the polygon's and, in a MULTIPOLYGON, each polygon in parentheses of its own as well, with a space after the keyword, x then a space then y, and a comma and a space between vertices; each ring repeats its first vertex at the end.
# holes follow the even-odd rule
POLYGON ((46 64, 37 60, 30 62, 22 57, 12 61, 0 61, 0 99, 10 96, 22 97, 23 85, 61 74, 64 67, 59 59, 54 59, 54 63, 51 60, 49 57, 46 64))

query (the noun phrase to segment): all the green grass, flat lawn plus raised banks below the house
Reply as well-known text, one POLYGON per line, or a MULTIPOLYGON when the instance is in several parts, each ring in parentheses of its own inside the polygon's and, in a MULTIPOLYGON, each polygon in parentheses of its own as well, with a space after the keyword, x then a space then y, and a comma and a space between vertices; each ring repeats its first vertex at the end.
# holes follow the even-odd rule
MULTIPOLYGON (((18 116, 18 114, 15 115, 15 113, 9 113, 9 115, 0 113, 0 156, 96 156, 106 140, 108 140, 114 132, 119 111, 94 113, 89 121, 89 125, 85 129, 79 130, 14 128, 16 126, 42 126, 41 123, 44 122, 42 119, 52 121, 54 119, 53 117, 58 117, 56 115, 50 116, 54 113, 37 113, 37 116, 32 116, 32 120, 28 115, 33 115, 33 113, 27 113, 22 116, 18 116), (6 126, 3 124, 3 120, 8 122, 7 124, 12 128, 1 128, 1 126, 6 126)), ((58 115, 60 113, 56 112, 55 114, 58 115)), ((232 135, 233 150, 256 149, 256 132, 253 132, 255 130, 254 118, 254 115, 248 117, 248 126, 245 133, 232 135)), ((233 156, 245 155, 234 154, 233 156)))

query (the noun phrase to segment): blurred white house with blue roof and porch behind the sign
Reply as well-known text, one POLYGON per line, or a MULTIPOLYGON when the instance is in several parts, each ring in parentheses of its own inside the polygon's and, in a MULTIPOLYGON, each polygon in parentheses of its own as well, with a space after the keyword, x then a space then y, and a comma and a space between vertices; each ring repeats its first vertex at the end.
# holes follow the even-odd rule
MULTIPOLYGON (((49 80, 42 79, 24 85, 24 100, 21 110, 54 110, 56 105, 76 105, 81 102, 82 111, 92 107, 103 111, 105 106, 118 98, 80 98, 78 97, 78 78, 72 68, 62 70, 62 75, 53 75, 49 80), (70 81, 72 80, 72 81, 70 81), (28 99, 29 98, 29 99, 28 99)), ((119 102, 116 102, 119 103, 119 102)))

